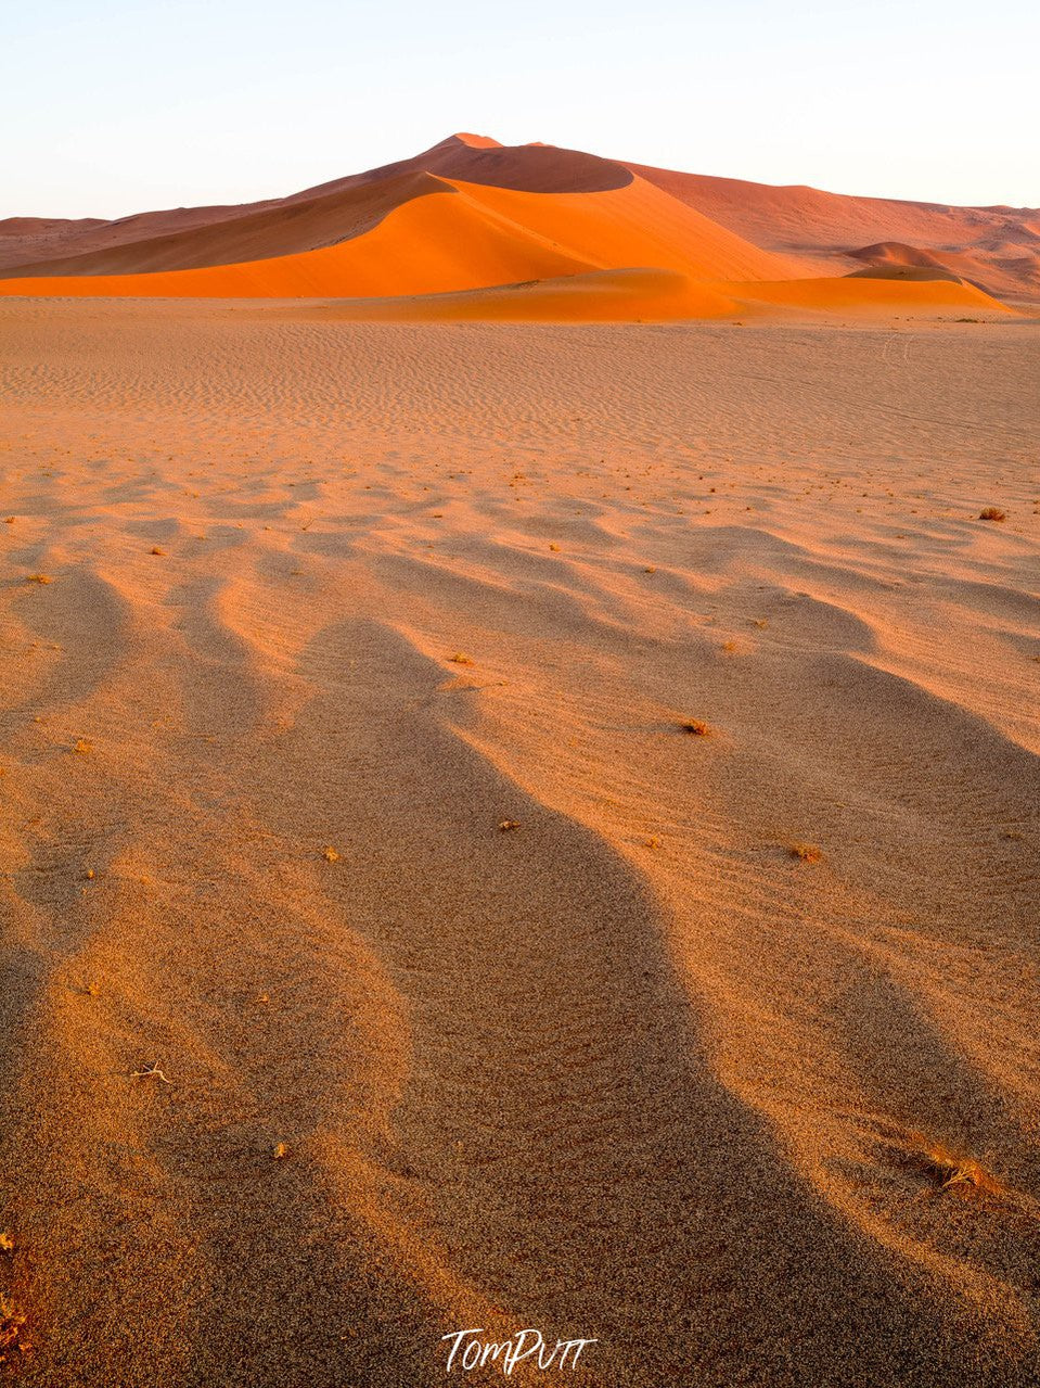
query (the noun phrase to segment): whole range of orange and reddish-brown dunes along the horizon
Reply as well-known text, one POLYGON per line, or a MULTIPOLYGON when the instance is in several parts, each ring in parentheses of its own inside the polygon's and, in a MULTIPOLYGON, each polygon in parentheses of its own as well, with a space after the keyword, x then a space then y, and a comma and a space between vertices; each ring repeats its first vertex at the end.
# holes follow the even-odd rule
POLYGON ((765 187, 453 135, 265 203, 112 222, 12 218, 0 222, 0 268, 6 296, 361 301, 351 316, 366 304, 369 316, 574 321, 1000 312, 998 298, 1040 296, 1040 212, 765 187), (887 289, 849 287, 864 266, 887 289), (937 279, 942 291, 922 293, 937 279), (759 282, 786 287, 747 291, 759 282), (412 303, 424 296, 438 298, 412 303))

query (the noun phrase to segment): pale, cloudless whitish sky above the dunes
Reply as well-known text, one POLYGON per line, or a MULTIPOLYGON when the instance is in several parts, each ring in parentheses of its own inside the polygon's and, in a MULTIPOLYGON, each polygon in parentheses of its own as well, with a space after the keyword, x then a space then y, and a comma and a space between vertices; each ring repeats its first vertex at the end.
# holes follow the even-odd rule
POLYGON ((1040 0, 29 0, 0 217, 273 197, 453 130, 1037 207, 1039 53, 1040 0))

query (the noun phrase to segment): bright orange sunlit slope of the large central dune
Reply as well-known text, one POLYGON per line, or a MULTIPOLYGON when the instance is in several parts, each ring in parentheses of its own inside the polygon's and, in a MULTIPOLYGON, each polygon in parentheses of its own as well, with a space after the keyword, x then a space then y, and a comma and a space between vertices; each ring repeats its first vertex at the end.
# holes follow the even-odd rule
MULTIPOLYGON (((634 179, 531 194, 430 179, 377 226, 297 255, 151 275, 24 278, 0 294, 366 297, 437 294, 588 269, 648 266, 702 279, 778 278, 788 262, 634 179)), ((225 229, 226 230, 226 229, 225 229)), ((709 296, 710 297, 710 296, 709 296)))

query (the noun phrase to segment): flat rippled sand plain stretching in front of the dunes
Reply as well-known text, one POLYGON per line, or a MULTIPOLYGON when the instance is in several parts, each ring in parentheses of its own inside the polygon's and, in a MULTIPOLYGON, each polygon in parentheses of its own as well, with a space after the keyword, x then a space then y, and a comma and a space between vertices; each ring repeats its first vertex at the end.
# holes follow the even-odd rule
POLYGON ((0 304, 0 1373, 1036 1382, 1036 321, 352 312, 0 304))

